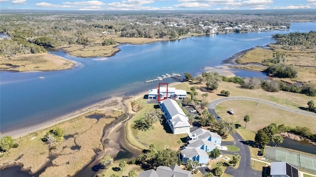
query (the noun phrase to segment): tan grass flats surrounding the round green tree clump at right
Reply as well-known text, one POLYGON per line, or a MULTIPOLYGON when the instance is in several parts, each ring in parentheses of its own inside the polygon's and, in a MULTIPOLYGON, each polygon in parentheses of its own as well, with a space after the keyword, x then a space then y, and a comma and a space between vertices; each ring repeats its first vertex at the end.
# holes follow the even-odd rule
MULTIPOLYGON (((268 62, 267 60, 273 59, 273 52, 277 51, 286 55, 286 64, 293 64, 298 68, 299 72, 297 78, 290 80, 300 82, 316 81, 316 53, 313 49, 305 51, 288 51, 281 49, 280 46, 276 44, 271 44, 269 46, 272 47, 273 50, 257 47, 247 51, 240 59, 237 60, 237 62, 241 64, 260 63, 263 65, 269 65, 271 62, 268 62)), ((265 66, 258 67, 254 65, 237 65, 234 67, 259 71, 266 69, 265 66)))

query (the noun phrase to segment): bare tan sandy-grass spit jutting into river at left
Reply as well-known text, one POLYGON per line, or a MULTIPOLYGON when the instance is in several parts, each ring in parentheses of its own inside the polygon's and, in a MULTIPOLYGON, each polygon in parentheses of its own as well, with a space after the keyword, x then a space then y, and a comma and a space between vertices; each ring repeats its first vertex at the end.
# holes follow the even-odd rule
POLYGON ((69 69, 76 65, 76 62, 48 54, 27 54, 15 57, 0 57, 0 70, 11 71, 51 71, 69 69))

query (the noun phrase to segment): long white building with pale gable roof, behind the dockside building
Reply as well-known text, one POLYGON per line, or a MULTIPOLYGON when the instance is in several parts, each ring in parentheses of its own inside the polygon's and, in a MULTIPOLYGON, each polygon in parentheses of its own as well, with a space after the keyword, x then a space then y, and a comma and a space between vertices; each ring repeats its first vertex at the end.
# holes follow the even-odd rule
POLYGON ((173 134, 189 133, 189 118, 175 100, 170 98, 159 102, 159 107, 173 134))

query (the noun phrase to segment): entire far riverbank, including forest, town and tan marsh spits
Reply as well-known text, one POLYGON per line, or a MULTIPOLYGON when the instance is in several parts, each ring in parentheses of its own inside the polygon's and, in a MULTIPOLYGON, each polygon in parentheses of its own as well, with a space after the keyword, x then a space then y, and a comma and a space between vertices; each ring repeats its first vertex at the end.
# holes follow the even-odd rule
POLYGON ((87 14, 3 10, 1 14, 0 33, 10 38, 0 40, 0 66, 1 70, 13 71, 74 67, 72 63, 49 64, 44 57, 49 54, 34 59, 25 56, 45 53, 44 47, 63 50, 78 57, 110 57, 119 52, 118 45, 123 43, 144 44, 205 33, 286 29, 292 19, 299 19, 295 22, 316 21, 315 12, 311 10, 281 10, 275 11, 273 15, 270 11, 251 10, 238 13, 190 11, 87 14), (19 59, 16 56, 20 56, 19 59), (21 60, 24 60, 23 64, 19 64, 21 60))

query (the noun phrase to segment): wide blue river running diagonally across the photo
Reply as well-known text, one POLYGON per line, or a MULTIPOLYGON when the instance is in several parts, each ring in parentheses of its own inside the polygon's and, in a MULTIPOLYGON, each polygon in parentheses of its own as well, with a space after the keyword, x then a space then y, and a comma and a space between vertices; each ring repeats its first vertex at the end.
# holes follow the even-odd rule
MULTIPOLYGON (((172 71, 192 75, 205 66, 220 65, 235 53, 274 43, 275 33, 308 32, 316 23, 293 23, 290 30, 210 34, 143 45, 124 44, 114 57, 78 58, 60 51, 50 53, 72 59, 80 67, 52 72, 0 73, 0 132, 5 133, 48 121, 104 100, 156 88, 148 77, 172 71), (39 77, 45 77, 40 79, 39 77)), ((242 77, 265 77, 264 73, 232 70, 242 77)), ((167 79, 164 82, 173 82, 167 79)))

